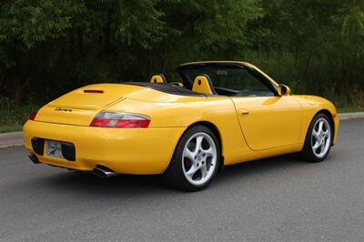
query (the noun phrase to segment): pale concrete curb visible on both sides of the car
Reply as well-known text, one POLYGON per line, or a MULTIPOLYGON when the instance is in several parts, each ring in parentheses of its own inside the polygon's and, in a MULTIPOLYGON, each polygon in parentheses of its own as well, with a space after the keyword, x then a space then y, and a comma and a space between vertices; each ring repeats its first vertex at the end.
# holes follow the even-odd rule
MULTIPOLYGON (((364 112, 339 114, 340 120, 364 118, 364 112)), ((11 132, 0 134, 0 148, 11 146, 24 146, 23 132, 11 132)))

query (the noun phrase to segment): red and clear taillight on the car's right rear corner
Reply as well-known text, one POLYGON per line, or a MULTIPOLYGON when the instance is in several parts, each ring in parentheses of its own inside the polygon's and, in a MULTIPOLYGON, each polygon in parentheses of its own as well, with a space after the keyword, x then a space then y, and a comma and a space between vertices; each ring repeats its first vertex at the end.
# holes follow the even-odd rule
POLYGON ((129 113, 116 113, 116 112, 101 112, 90 126, 99 127, 148 127, 150 118, 148 116, 141 116, 129 113))

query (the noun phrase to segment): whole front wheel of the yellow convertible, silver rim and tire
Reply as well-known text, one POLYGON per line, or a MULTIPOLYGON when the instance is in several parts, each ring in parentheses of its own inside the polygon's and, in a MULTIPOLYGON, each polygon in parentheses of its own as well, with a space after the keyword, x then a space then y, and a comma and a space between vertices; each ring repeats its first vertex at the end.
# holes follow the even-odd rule
POLYGON ((300 153, 308 162, 321 162, 329 155, 333 139, 333 126, 329 116, 319 113, 308 127, 305 145, 300 153))

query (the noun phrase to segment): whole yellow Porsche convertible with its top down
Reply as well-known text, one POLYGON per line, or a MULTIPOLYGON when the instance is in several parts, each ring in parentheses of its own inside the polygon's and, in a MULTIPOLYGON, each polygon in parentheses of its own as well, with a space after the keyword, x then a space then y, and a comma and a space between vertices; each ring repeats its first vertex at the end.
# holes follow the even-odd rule
POLYGON ((163 174, 201 190, 222 166, 288 153, 319 162, 336 142, 335 106, 290 95, 256 66, 197 62, 178 78, 84 86, 32 114, 25 146, 35 163, 96 176, 163 174))

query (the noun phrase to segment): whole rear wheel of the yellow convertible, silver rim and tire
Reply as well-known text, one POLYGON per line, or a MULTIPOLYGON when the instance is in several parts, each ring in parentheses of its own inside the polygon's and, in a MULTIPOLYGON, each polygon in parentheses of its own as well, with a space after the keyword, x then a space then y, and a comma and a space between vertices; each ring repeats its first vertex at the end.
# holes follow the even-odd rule
POLYGON ((206 126, 193 126, 180 138, 164 180, 184 191, 202 190, 216 176, 220 157, 217 136, 206 126))

